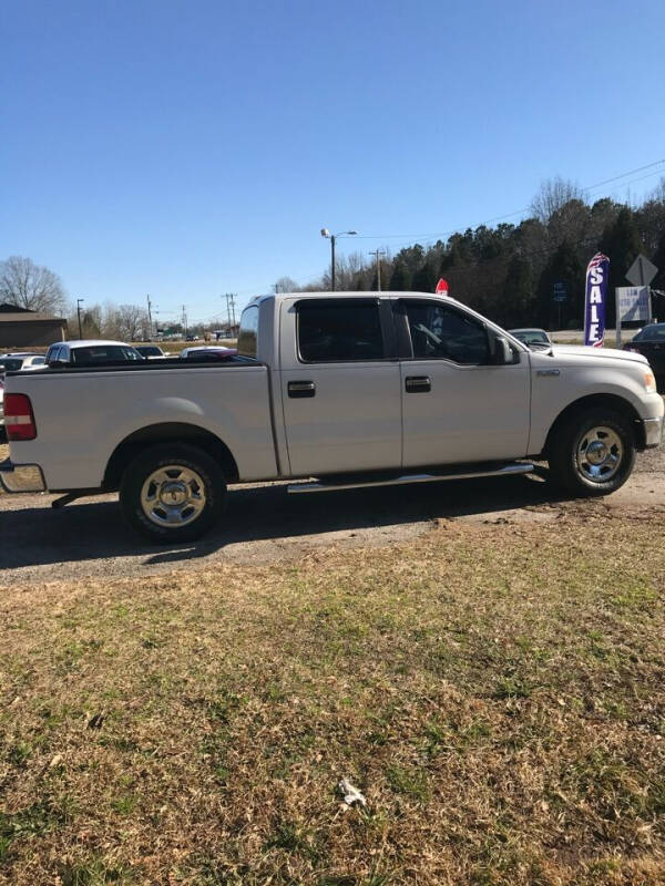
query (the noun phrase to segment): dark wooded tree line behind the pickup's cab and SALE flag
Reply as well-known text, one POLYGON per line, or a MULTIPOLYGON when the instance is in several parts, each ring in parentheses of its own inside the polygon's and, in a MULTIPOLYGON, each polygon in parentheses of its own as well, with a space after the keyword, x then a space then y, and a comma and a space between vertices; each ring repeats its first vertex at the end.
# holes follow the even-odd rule
MULTIPOLYGON (((591 257, 610 257, 607 324, 615 320, 614 287, 628 286, 625 272, 643 253, 657 267, 653 282, 665 289, 665 178, 641 205, 603 197, 590 204, 574 183, 550 179, 534 197, 528 218, 516 225, 480 225, 446 241, 415 244, 380 261, 381 288, 433 292, 439 278, 453 298, 503 327, 581 328, 584 323, 584 275, 591 257), (562 284, 566 301, 554 301, 562 284)), ((375 261, 360 253, 336 262, 338 290, 378 289, 375 261)), ((298 286, 284 277, 277 291, 330 289, 330 272, 298 286)), ((657 292, 656 292, 657 295, 657 292)), ((665 317, 665 296, 655 300, 665 317)))

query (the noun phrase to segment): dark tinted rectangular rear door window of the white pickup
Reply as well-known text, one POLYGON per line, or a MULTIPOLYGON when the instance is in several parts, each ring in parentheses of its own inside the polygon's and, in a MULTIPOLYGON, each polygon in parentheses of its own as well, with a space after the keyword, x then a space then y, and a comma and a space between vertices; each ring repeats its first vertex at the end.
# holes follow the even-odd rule
POLYGON ((298 356, 305 363, 382 360, 383 337, 376 301, 301 301, 298 356))

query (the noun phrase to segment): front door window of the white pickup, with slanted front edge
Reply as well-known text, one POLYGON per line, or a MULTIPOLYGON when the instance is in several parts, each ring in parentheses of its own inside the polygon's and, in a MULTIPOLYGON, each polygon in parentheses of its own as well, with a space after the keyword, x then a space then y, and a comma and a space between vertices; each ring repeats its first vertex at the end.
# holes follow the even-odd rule
POLYGON ((452 360, 464 365, 491 362, 487 329, 447 305, 405 299, 413 358, 417 360, 452 360))

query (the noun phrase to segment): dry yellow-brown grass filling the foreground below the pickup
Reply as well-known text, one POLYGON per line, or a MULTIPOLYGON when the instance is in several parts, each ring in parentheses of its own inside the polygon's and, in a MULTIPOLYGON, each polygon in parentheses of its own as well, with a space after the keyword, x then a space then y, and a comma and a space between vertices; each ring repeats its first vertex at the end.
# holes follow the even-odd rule
POLYGON ((664 522, 1 587, 0 883, 665 882, 664 522))

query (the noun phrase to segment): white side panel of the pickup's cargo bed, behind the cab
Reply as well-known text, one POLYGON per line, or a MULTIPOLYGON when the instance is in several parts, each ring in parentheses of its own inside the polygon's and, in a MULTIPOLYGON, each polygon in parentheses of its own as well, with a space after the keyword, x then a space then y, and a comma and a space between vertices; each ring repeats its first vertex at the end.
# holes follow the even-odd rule
POLYGON ((51 491, 100 488, 117 446, 165 425, 224 441, 242 480, 278 476, 268 369, 256 360, 48 368, 8 373, 6 391, 30 396, 37 423, 12 460, 41 465, 51 491))

